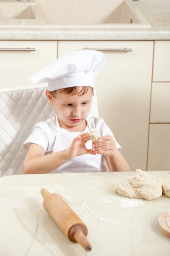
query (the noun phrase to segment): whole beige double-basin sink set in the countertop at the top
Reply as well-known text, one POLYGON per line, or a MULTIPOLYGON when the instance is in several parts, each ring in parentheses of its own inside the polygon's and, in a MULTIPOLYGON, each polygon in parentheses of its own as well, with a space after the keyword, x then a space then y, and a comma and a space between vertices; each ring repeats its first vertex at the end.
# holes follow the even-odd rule
POLYGON ((0 27, 149 28, 132 0, 0 0, 0 27))

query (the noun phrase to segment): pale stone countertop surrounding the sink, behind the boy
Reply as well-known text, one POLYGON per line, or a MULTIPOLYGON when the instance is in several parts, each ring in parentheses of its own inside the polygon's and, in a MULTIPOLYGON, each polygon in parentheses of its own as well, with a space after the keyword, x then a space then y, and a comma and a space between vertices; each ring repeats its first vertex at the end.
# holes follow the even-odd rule
POLYGON ((170 40, 170 0, 135 2, 151 23, 140 29, 0 29, 0 40, 170 40))

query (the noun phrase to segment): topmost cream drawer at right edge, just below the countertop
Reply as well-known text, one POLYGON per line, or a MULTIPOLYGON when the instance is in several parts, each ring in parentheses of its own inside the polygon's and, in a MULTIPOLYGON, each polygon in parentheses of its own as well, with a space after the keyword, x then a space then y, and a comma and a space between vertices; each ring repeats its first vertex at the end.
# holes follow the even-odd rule
POLYGON ((153 82, 170 81, 170 41, 156 41, 153 61, 153 82))

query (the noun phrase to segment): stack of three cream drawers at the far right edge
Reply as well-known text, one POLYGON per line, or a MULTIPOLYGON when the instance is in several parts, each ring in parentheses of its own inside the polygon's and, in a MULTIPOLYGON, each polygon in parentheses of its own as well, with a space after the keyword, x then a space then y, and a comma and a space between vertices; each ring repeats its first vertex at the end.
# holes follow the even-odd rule
POLYGON ((150 109, 148 171, 170 170, 170 41, 156 41, 150 109))

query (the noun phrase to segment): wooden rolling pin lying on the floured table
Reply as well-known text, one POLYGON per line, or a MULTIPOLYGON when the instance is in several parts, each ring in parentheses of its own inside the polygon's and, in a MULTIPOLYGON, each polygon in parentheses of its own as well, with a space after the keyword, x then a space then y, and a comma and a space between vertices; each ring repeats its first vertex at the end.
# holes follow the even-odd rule
POLYGON ((44 198, 43 207, 51 219, 74 243, 79 243, 86 251, 91 251, 91 244, 86 239, 88 229, 76 213, 58 194, 51 194, 47 189, 41 189, 44 198))

